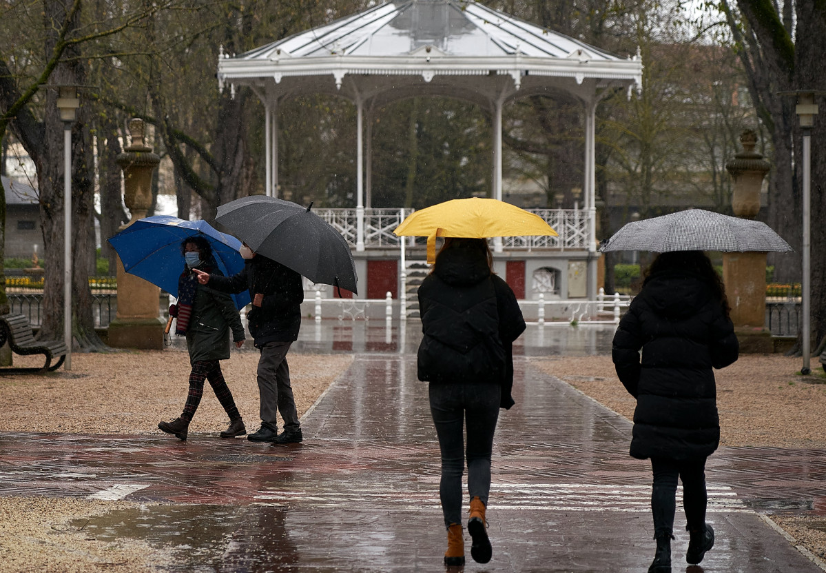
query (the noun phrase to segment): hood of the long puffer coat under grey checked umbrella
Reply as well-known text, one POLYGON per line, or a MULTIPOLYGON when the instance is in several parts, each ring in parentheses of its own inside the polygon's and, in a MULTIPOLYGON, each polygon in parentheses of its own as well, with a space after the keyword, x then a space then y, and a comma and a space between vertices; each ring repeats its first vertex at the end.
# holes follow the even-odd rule
POLYGON ((695 314, 711 298, 708 284, 700 275, 667 270, 649 276, 643 295, 653 311, 666 318, 684 318, 695 314))

